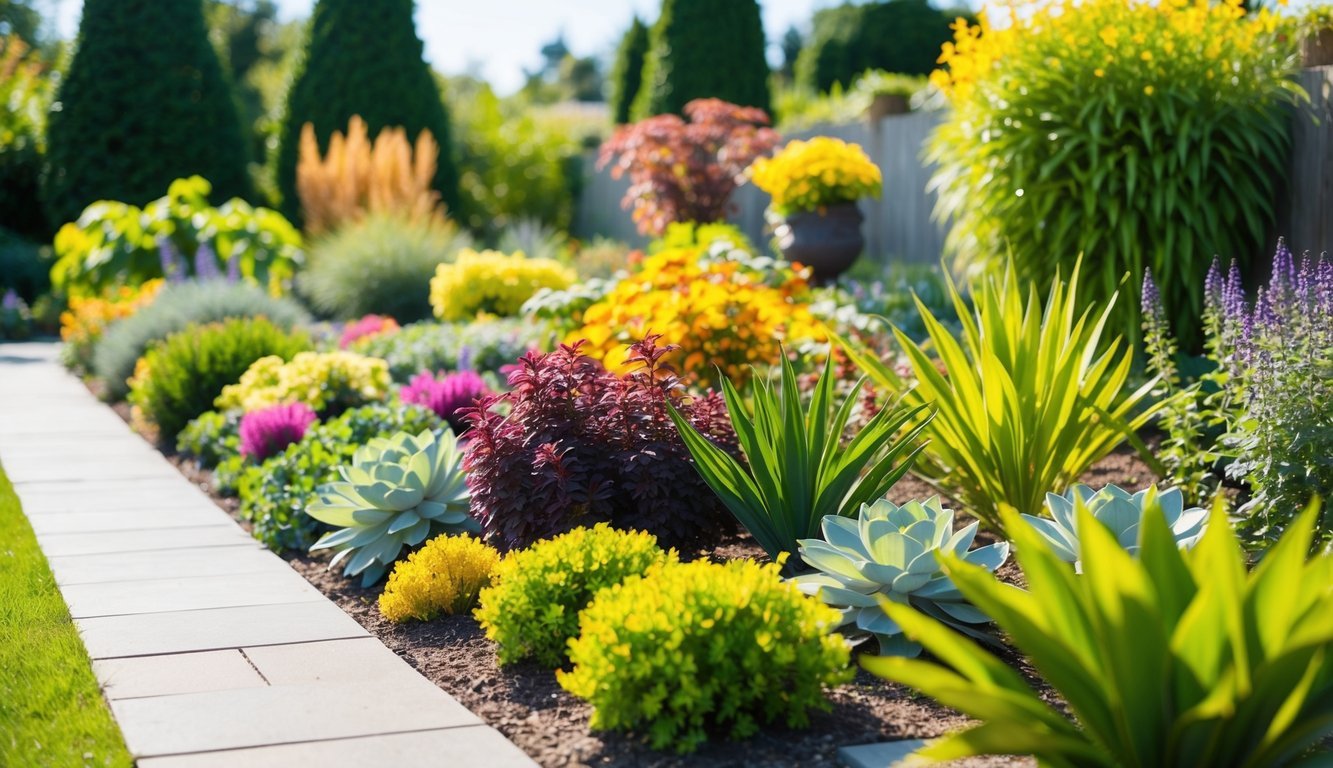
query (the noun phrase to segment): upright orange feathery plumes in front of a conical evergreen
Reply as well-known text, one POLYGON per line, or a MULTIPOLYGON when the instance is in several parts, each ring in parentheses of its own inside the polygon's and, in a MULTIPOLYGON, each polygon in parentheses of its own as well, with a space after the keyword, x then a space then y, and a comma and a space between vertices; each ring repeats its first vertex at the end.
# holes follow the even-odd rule
POLYGON ((439 159, 429 131, 417 136, 415 148, 403 128, 385 128, 372 143, 365 121, 355 115, 347 136, 335 131, 328 153, 320 156, 315 127, 307 123, 296 167, 305 231, 319 235, 368 213, 443 220, 440 193, 432 188, 439 159))

